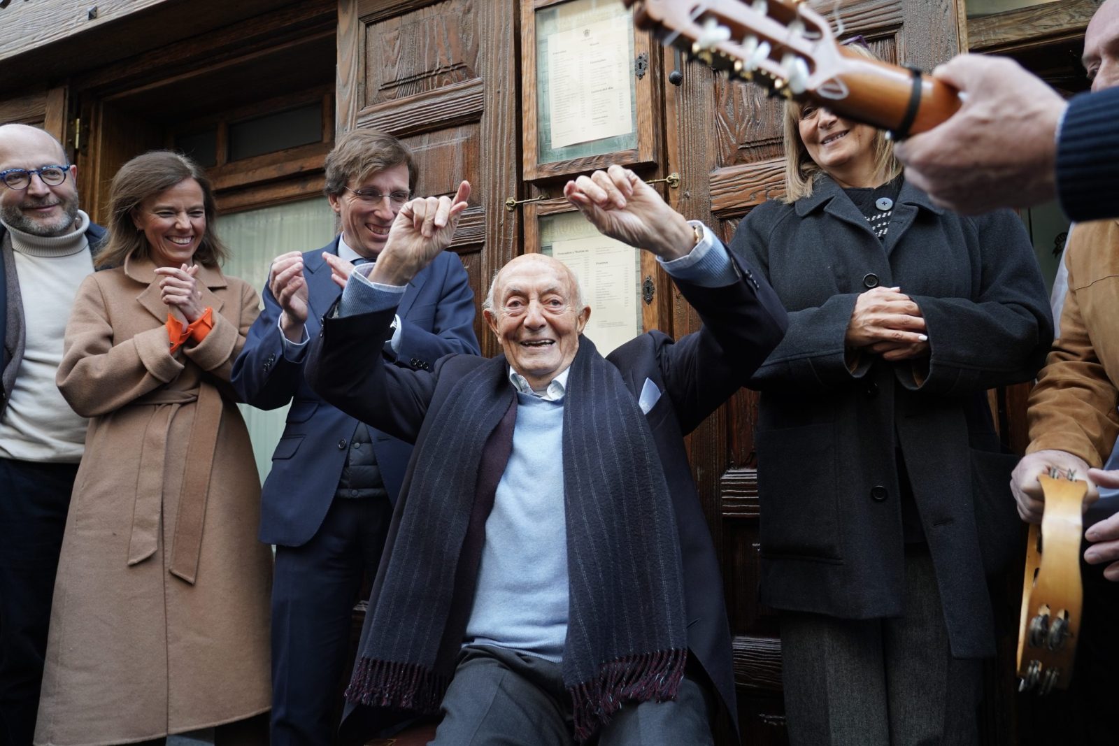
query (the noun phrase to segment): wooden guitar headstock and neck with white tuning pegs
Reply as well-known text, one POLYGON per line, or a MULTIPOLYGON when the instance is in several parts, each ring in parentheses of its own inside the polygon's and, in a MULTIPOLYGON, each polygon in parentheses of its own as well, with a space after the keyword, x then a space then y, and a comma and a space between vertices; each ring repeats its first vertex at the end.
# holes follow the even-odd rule
POLYGON ((623 2, 638 27, 771 95, 814 101, 902 135, 928 130, 960 106, 943 83, 836 44, 828 22, 803 0, 623 2))

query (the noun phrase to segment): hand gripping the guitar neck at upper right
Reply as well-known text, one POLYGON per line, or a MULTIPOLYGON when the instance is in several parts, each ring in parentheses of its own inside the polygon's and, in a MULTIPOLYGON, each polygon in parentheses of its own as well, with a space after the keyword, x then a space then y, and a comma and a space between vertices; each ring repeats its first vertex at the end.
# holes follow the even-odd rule
POLYGON ((933 75, 959 89, 963 105, 897 144, 905 178, 958 213, 1052 199, 1061 96, 1006 57, 961 55, 933 75))

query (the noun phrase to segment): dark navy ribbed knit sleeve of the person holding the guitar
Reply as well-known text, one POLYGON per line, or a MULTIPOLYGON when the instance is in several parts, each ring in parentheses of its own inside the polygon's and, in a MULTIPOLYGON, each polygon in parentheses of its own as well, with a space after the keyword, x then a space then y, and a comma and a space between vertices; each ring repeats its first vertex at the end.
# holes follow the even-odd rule
POLYGON ((1119 217, 1119 88, 1069 102, 1056 153, 1061 207, 1073 220, 1119 217))

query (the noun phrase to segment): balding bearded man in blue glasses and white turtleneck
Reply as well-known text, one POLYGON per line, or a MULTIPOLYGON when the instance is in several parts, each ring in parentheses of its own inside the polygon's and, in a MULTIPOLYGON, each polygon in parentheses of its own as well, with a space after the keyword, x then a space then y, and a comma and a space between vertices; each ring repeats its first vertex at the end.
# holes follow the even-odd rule
POLYGON ((0 744, 35 734, 47 625, 86 421, 55 386, 77 286, 104 229, 53 136, 0 126, 0 744))

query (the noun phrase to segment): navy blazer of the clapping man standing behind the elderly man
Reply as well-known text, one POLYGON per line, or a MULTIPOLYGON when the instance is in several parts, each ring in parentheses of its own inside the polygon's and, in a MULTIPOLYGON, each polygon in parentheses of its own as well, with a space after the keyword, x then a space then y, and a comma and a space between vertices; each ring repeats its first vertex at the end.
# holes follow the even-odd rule
MULTIPOLYGON (((322 315, 341 294, 330 278, 330 265, 322 252, 337 254, 338 238, 303 254, 310 339, 318 337, 322 315)), ((272 456, 272 472, 261 493, 260 539, 298 547, 322 525, 358 421, 320 399, 307 385, 307 356, 300 362, 284 358, 280 304, 267 285, 261 295, 264 311, 248 330, 245 347, 233 363, 231 383, 244 402, 261 409, 275 409, 291 402, 288 424, 272 456)), ((395 358, 388 352, 378 357, 424 369, 449 352, 478 355, 473 298, 462 262, 443 252, 404 291, 396 311, 401 318, 399 351, 395 358)), ((380 476, 389 500, 395 502, 412 446, 369 429, 380 476)))

